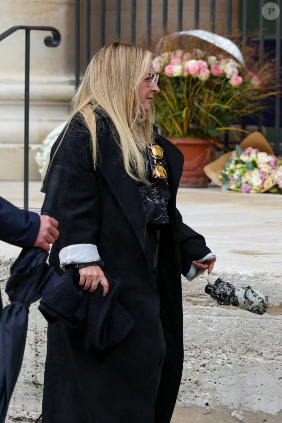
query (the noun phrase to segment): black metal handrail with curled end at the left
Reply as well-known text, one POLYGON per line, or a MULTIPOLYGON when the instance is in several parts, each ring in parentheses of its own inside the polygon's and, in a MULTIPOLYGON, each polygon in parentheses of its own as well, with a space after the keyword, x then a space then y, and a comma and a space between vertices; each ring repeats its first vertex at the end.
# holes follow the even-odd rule
POLYGON ((24 83, 24 209, 28 210, 28 169, 29 169, 29 76, 30 76, 30 32, 31 31, 50 31, 51 35, 44 38, 44 44, 47 47, 57 47, 61 42, 60 32, 53 26, 12 26, 7 31, 0 34, 0 41, 18 30, 25 30, 25 83, 24 83))

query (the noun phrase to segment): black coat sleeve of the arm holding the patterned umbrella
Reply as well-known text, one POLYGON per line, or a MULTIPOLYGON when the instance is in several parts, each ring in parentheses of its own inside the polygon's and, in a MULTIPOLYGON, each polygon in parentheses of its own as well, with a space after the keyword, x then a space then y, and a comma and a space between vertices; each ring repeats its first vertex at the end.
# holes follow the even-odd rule
POLYGON ((176 210, 176 220, 180 243, 181 273, 187 275, 192 261, 204 258, 211 253, 211 250, 206 246, 203 235, 183 223, 182 216, 178 210, 176 210))

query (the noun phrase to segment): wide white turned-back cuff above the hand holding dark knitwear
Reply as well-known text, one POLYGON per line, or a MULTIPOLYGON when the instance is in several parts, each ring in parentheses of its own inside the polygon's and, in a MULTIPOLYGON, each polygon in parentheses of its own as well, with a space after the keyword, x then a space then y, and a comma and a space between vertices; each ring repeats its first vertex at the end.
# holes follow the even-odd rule
POLYGON ((64 247, 59 252, 60 267, 65 270, 68 264, 90 263, 101 260, 94 244, 74 244, 64 247))

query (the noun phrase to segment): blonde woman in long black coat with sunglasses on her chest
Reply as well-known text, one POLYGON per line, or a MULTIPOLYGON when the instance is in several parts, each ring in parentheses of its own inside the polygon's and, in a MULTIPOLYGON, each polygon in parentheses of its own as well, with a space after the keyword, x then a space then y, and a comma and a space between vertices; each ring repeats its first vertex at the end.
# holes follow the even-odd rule
POLYGON ((151 52, 103 47, 53 146, 43 187, 54 164, 64 177, 50 263, 77 268, 89 301, 99 289, 106 301, 118 279, 132 326, 100 351, 85 347, 81 327, 49 325, 43 423, 171 420, 183 363, 181 273, 210 273, 215 256, 176 210, 183 157, 152 124, 157 83, 151 52))

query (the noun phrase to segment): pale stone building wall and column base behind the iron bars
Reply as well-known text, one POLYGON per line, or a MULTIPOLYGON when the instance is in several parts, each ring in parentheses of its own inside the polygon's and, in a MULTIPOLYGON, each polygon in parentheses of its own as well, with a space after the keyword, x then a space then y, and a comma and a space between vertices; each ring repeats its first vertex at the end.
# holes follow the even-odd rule
MULTIPOLYGON (((152 35, 146 36, 146 2, 136 2, 136 44, 154 49, 162 36, 162 0, 152 1, 152 35)), ((215 32, 226 35, 227 2, 217 0, 215 32)), ((237 29, 238 0, 232 1, 232 30, 237 29)), ((131 42, 131 1, 121 2, 121 39, 131 42)), ((83 73, 85 11, 81 5, 81 72, 83 73)), ((0 34, 17 25, 43 25, 57 28, 62 36, 56 48, 46 47, 45 31, 30 35, 30 180, 39 180, 35 153, 44 138, 69 117, 69 102, 74 94, 74 0, 2 0, 0 2, 0 34)), ((177 2, 168 2, 168 32, 177 31, 177 2)), ((100 47, 101 3, 91 2, 90 51, 100 47)), ((116 39, 116 1, 106 2, 105 43, 116 39)), ((199 28, 211 30, 210 4, 200 5, 199 28)), ((194 29, 194 4, 183 2, 183 30, 194 29)), ((25 32, 19 30, 0 42, 0 178, 23 179, 24 140, 24 54, 25 32)))

